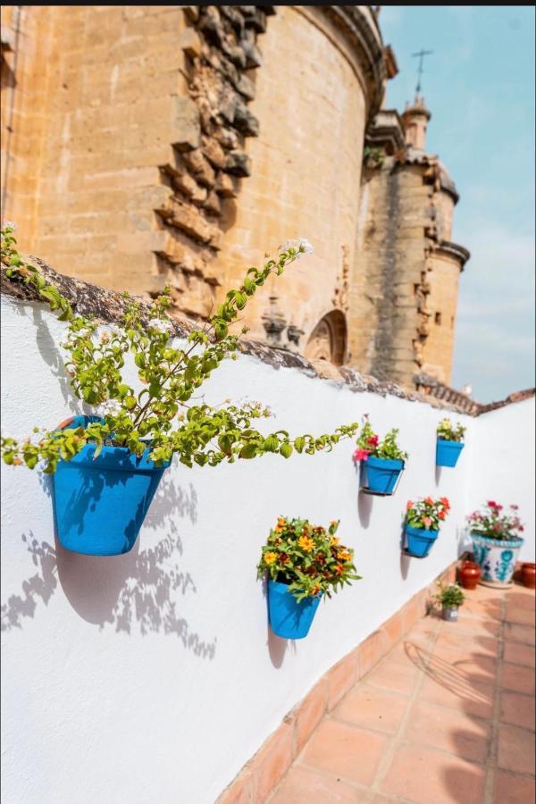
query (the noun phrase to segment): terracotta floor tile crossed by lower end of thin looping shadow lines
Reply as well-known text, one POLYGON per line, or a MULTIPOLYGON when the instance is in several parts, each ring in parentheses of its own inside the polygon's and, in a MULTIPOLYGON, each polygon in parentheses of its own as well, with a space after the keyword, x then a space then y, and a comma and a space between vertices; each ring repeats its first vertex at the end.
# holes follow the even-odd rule
POLYGON ((426 676, 419 691, 419 701, 482 718, 492 716, 494 699, 490 684, 470 682, 455 673, 426 676))

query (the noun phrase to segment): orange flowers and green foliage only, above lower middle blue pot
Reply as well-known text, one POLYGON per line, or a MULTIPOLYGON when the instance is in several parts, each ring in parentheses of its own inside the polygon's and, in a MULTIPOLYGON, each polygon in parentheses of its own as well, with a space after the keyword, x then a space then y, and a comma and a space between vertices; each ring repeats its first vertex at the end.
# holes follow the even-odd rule
POLYGON ((319 595, 331 598, 331 592, 361 580, 354 550, 340 544, 335 535, 338 527, 339 521, 326 529, 307 519, 280 516, 263 546, 258 577, 268 574, 272 581, 288 584, 298 602, 319 595))

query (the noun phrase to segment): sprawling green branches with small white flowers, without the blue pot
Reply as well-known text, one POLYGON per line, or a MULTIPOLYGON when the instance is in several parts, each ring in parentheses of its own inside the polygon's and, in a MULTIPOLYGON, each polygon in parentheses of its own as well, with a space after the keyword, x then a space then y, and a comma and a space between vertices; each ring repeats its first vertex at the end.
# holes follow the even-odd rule
MULTIPOLYGON (((62 346, 71 388, 76 397, 95 406, 96 416, 86 426, 63 431, 35 428, 33 440, 19 442, 3 437, 0 444, 6 464, 25 464, 33 469, 44 461, 44 472, 54 473, 59 460, 71 460, 91 442, 96 444, 95 455, 105 445, 127 448, 137 456, 150 448, 148 456, 156 465, 177 455, 187 466, 215 466, 270 452, 285 458, 295 450, 313 455, 323 449, 330 451, 340 439, 356 434, 358 424, 352 423, 320 436, 291 437, 285 430, 264 435, 255 429, 255 420, 271 414, 258 402, 238 406, 226 400, 220 406, 210 406, 194 401, 194 394, 222 360, 237 358, 239 337, 230 334, 230 326, 271 274, 281 275, 288 264, 313 250, 306 240, 285 244, 262 269, 248 268, 239 289, 230 290, 205 326, 190 331, 186 345, 178 347, 172 340, 169 288, 155 299, 148 314, 123 294, 126 311, 121 325, 99 334, 94 317, 73 311, 61 291, 22 259, 13 230, 13 224, 2 229, 5 274, 10 281, 22 281, 37 289, 59 320, 66 323, 62 346), (128 353, 142 385, 138 392, 123 378, 128 353)), ((245 332, 247 329, 242 328, 245 332)))

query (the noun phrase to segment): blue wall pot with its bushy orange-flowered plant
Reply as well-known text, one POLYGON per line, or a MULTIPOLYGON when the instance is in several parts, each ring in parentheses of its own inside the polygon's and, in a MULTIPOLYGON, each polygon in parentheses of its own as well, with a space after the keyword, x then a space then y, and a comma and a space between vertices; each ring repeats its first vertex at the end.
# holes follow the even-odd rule
POLYGON ((360 580, 354 551, 335 535, 306 519, 278 518, 263 546, 259 577, 268 575, 268 618, 272 632, 288 640, 306 637, 322 597, 360 580))

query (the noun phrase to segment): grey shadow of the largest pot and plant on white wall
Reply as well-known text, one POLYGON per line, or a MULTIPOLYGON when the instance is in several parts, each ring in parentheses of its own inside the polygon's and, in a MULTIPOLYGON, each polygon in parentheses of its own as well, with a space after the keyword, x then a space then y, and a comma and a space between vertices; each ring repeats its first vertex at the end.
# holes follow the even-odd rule
MULTIPOLYGON (((50 494, 51 478, 41 477, 50 494)), ((150 549, 140 550, 138 539, 123 556, 84 556, 63 549, 57 538, 53 547, 32 532, 23 534, 37 572, 22 583, 21 595, 12 595, 2 605, 2 631, 21 628, 26 617, 35 615, 39 599, 48 604, 59 582, 77 614, 101 630, 110 624, 116 632, 131 633, 138 628, 144 635, 175 635, 197 656, 214 658, 215 638, 204 641, 180 616, 177 596, 197 590, 191 575, 177 563, 183 553, 176 524, 179 516, 196 523, 196 490, 191 484, 188 490, 177 487, 164 476, 144 527, 156 530, 165 526, 168 532, 150 549)))

